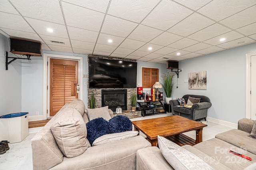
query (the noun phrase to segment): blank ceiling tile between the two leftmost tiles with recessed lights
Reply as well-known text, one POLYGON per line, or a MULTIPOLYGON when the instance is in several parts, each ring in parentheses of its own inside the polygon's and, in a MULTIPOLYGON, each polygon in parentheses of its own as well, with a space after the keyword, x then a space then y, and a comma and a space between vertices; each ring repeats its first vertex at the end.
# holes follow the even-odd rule
POLYGON ((80 40, 84 42, 93 42, 95 43, 98 38, 98 32, 84 30, 81 28, 75 28, 68 26, 68 34, 71 40, 80 40))

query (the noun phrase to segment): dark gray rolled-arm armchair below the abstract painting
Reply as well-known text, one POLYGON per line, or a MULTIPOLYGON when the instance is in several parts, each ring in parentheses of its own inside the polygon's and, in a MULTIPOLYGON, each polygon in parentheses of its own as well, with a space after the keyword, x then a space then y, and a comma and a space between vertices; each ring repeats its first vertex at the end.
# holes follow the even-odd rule
POLYGON ((202 95, 184 95, 182 98, 184 98, 185 101, 188 102, 189 96, 195 97, 195 98, 201 98, 200 102, 194 103, 194 105, 192 105, 192 107, 189 109, 186 107, 178 107, 180 106, 180 103, 178 102, 177 99, 170 100, 170 105, 172 107, 172 114, 180 115, 182 117, 186 117, 192 120, 197 120, 202 118, 206 120, 208 108, 212 106, 212 103, 210 103, 210 99, 202 95))

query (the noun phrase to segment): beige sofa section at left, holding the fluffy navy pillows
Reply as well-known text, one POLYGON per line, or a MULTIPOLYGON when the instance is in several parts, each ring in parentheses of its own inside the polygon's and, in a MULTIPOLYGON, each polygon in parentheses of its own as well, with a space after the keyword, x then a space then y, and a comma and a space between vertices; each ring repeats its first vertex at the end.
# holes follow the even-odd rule
MULTIPOLYGON (((112 111, 108 110, 113 117, 112 111)), ((135 170, 136 152, 150 147, 142 136, 98 142, 90 146, 86 138, 89 121, 83 101, 76 99, 66 104, 31 140, 34 170, 135 170)), ((118 133, 120 134, 120 133, 118 133)), ((122 132, 121 132, 122 134, 122 132)))

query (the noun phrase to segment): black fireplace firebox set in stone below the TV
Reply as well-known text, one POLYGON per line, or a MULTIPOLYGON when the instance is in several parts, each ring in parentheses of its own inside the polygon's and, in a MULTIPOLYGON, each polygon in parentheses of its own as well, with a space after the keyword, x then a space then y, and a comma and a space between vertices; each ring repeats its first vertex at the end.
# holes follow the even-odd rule
POLYGON ((108 106, 113 112, 120 106, 123 111, 127 110, 127 89, 102 89, 102 107, 108 106))

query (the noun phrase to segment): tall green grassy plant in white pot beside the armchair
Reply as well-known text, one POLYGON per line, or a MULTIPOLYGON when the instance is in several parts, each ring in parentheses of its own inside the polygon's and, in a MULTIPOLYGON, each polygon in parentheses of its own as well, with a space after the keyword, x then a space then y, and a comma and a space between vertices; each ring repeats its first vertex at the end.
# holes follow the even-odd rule
POLYGON ((162 81, 162 87, 166 93, 166 104, 169 104, 169 101, 172 100, 172 90, 173 90, 173 86, 174 86, 174 82, 172 81, 174 74, 168 73, 162 75, 161 77, 163 77, 162 81))

